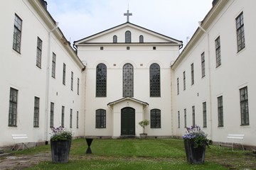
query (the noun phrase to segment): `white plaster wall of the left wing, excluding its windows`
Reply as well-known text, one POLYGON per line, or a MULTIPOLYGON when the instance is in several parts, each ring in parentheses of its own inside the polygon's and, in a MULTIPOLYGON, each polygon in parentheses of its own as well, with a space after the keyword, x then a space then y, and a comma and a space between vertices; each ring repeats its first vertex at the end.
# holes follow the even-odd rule
MULTIPOLYGON (((0 18, 1 27, 1 95, 0 95, 0 147, 13 145, 11 134, 27 134, 28 141, 43 142, 49 140, 50 129, 46 128, 46 75, 48 58, 48 31, 46 23, 28 1, 6 1, 0 18), (22 20, 21 52, 12 49, 15 13, 22 20), (43 41, 41 68, 36 67, 37 38, 43 41), (9 93, 10 88, 18 90, 17 127, 9 127, 9 93), (40 98, 39 128, 33 128, 34 98, 40 98)), ((61 106, 73 108, 73 131, 75 135, 83 135, 83 114, 80 107, 80 96, 75 95, 77 81, 82 80, 81 68, 78 67, 68 51, 51 34, 51 51, 57 55, 56 79, 50 77, 50 102, 55 103, 54 125, 60 125, 61 106), (62 85, 63 62, 67 64, 67 85, 62 85), (74 72, 74 91, 70 91, 70 71, 74 72), (56 96, 58 92, 58 96, 56 96), (80 111, 80 128, 76 129, 76 111, 80 111)), ((50 55, 50 72, 51 72, 50 55)), ((82 86, 82 84, 81 84, 82 86)), ((81 88, 80 86, 80 88, 81 88)), ((82 92, 82 90, 80 89, 82 92)), ((49 110, 50 111, 50 110, 49 110)), ((69 125, 69 112, 65 116, 65 125, 69 125)), ((48 113, 49 114, 49 113, 48 113)), ((48 123, 49 125, 49 123, 48 123)), ((67 126, 67 128, 69 128, 67 126)))

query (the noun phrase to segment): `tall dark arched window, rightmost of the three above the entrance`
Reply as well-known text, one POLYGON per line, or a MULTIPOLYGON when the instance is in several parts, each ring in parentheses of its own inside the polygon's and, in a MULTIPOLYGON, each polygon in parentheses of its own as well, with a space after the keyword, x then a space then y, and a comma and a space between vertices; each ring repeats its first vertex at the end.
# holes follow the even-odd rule
POLYGON ((160 67, 159 64, 151 64, 149 67, 150 75, 150 96, 151 97, 160 97, 161 88, 160 88, 160 67))

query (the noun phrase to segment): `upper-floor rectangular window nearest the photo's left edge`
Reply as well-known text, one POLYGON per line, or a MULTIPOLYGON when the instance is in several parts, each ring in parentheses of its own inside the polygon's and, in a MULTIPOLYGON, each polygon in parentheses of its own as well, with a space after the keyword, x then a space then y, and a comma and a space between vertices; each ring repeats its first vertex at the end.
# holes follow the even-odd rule
POLYGON ((22 20, 16 14, 14 17, 14 38, 13 38, 13 49, 16 52, 21 52, 21 25, 22 20))

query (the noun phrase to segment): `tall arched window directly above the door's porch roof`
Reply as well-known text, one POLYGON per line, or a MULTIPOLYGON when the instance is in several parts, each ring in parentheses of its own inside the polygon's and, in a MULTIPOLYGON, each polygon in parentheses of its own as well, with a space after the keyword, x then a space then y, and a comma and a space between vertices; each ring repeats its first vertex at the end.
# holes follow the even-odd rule
POLYGON ((134 72, 132 64, 124 64, 123 67, 123 97, 134 96, 134 72))

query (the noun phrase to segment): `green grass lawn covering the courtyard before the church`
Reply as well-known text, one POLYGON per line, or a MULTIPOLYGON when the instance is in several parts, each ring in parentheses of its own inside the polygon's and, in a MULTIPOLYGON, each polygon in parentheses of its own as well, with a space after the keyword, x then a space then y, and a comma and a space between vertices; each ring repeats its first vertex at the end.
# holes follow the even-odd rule
MULTIPOLYGON (((188 164, 183 140, 127 139, 93 140, 92 154, 85 154, 85 139, 73 140, 68 164, 42 162, 30 169, 255 169, 255 157, 250 152, 218 148, 206 149, 206 162, 188 164)), ((26 154, 49 152, 50 146, 37 147, 26 154)), ((24 153, 24 152, 23 152, 24 153)))

